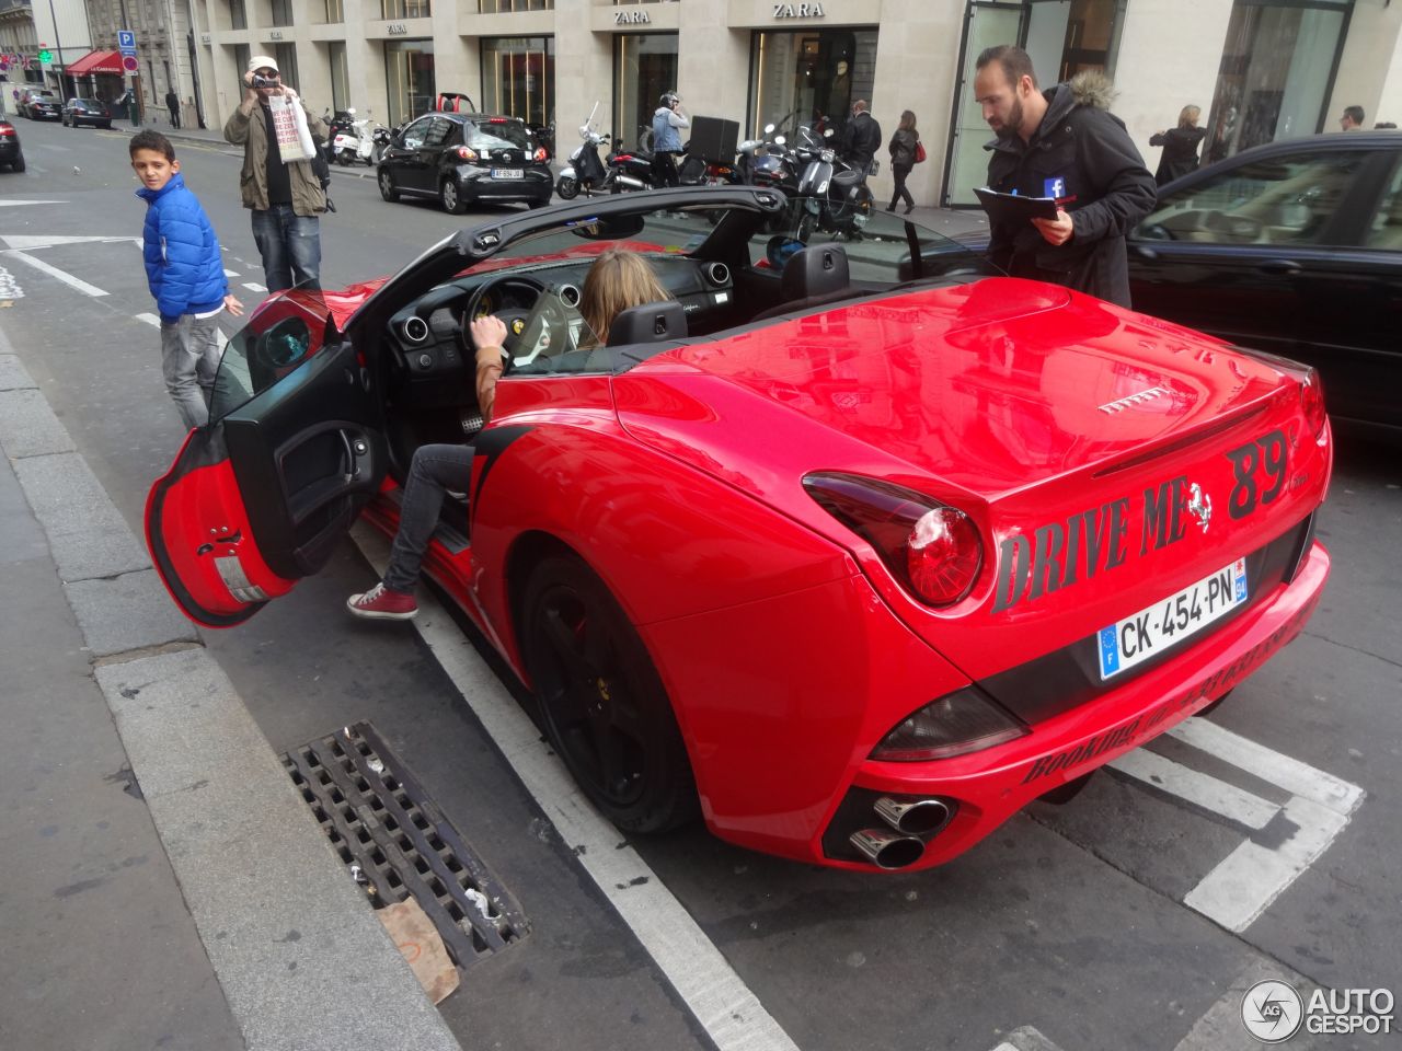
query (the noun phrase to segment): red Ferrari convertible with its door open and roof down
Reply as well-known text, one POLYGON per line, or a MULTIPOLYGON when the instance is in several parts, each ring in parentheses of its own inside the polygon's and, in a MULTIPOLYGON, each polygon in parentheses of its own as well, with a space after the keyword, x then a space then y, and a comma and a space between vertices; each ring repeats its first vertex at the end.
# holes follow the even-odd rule
POLYGON ((885 213, 801 226, 767 189, 621 195, 269 298, 151 489, 171 594, 247 619, 356 517, 394 531, 419 444, 471 441, 428 572, 599 809, 868 870, 956 856, 1301 631, 1311 370, 885 213), (673 298, 599 346, 579 290, 614 244, 673 298), (484 312, 512 334, 485 429, 484 312))

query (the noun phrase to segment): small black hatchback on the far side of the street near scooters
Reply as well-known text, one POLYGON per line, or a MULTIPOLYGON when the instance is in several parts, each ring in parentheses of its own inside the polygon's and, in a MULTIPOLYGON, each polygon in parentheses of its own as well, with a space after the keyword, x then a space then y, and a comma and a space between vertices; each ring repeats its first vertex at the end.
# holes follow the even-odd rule
POLYGON ((425 114, 397 129, 379 165, 380 195, 437 198, 458 214, 471 203, 550 203, 550 154, 513 116, 425 114))

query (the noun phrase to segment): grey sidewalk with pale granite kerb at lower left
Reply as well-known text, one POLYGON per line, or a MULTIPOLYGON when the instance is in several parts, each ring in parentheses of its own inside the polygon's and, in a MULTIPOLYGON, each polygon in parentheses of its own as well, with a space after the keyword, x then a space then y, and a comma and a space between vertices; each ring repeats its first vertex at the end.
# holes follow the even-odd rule
POLYGON ((460 1051, 0 331, 0 1048, 460 1051))

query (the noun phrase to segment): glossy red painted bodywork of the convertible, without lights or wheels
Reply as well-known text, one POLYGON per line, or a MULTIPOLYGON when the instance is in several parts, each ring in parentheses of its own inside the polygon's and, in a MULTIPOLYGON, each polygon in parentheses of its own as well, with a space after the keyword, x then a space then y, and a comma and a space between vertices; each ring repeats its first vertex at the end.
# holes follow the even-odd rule
MULTIPOLYGON (((327 297, 338 321, 370 287, 327 297)), ((478 455, 471 548, 433 542, 426 570, 524 678, 516 559, 534 537, 568 545, 642 636, 716 835, 872 870, 824 846, 848 792, 934 795, 956 809, 911 866, 928 867, 1206 706, 1301 631, 1329 569, 1312 540, 1241 615, 1016 740, 937 761, 871 758, 930 701, 1084 649, 1231 559, 1304 538, 1332 464, 1305 383, 1186 329, 1008 279, 721 334, 618 376, 506 376, 484 436, 522 433, 485 481, 478 455), (907 593, 805 492, 802 478, 826 469, 969 514, 984 555, 969 596, 934 610, 907 593), (1189 516, 1190 485, 1210 514, 1189 516)), ((366 517, 395 530, 388 499, 366 517)), ((151 549, 196 619, 247 608, 227 587, 229 601, 192 608, 188 593, 229 579, 216 558, 269 597, 292 586, 247 528, 227 461, 179 465, 153 488, 151 549), (222 499, 188 496, 196 475, 222 499)))

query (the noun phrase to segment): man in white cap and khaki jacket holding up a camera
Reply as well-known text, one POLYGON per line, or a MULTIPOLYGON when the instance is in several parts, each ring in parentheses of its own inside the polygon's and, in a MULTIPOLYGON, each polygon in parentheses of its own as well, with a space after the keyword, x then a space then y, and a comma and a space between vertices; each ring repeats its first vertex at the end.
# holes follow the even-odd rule
POLYGON ((310 160, 283 161, 278 147, 271 99, 280 97, 300 111, 314 140, 325 140, 327 126, 290 87, 282 83, 276 59, 255 55, 244 74, 244 101, 224 125, 224 139, 244 147, 238 182, 244 207, 252 210, 254 241, 262 255, 269 291, 293 284, 321 287, 321 227, 327 195, 310 160))

